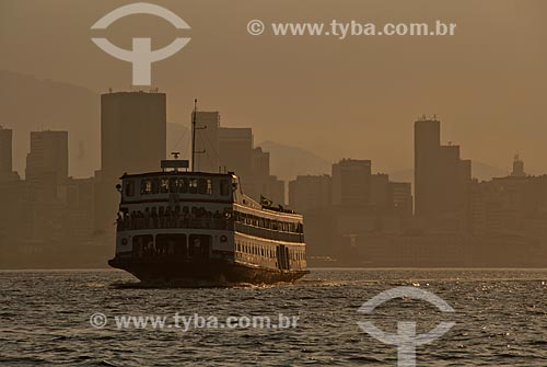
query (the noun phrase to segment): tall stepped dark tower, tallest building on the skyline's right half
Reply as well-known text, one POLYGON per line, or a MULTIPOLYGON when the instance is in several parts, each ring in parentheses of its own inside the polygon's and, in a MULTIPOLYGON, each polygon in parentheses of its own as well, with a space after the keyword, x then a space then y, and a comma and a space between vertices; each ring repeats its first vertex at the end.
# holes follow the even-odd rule
MULTIPOLYGON (((470 161, 459 158, 459 146, 441 145, 441 123, 423 117, 415 123, 416 215, 458 215, 465 219, 470 161)), ((461 227, 461 226, 459 226, 461 227)))

